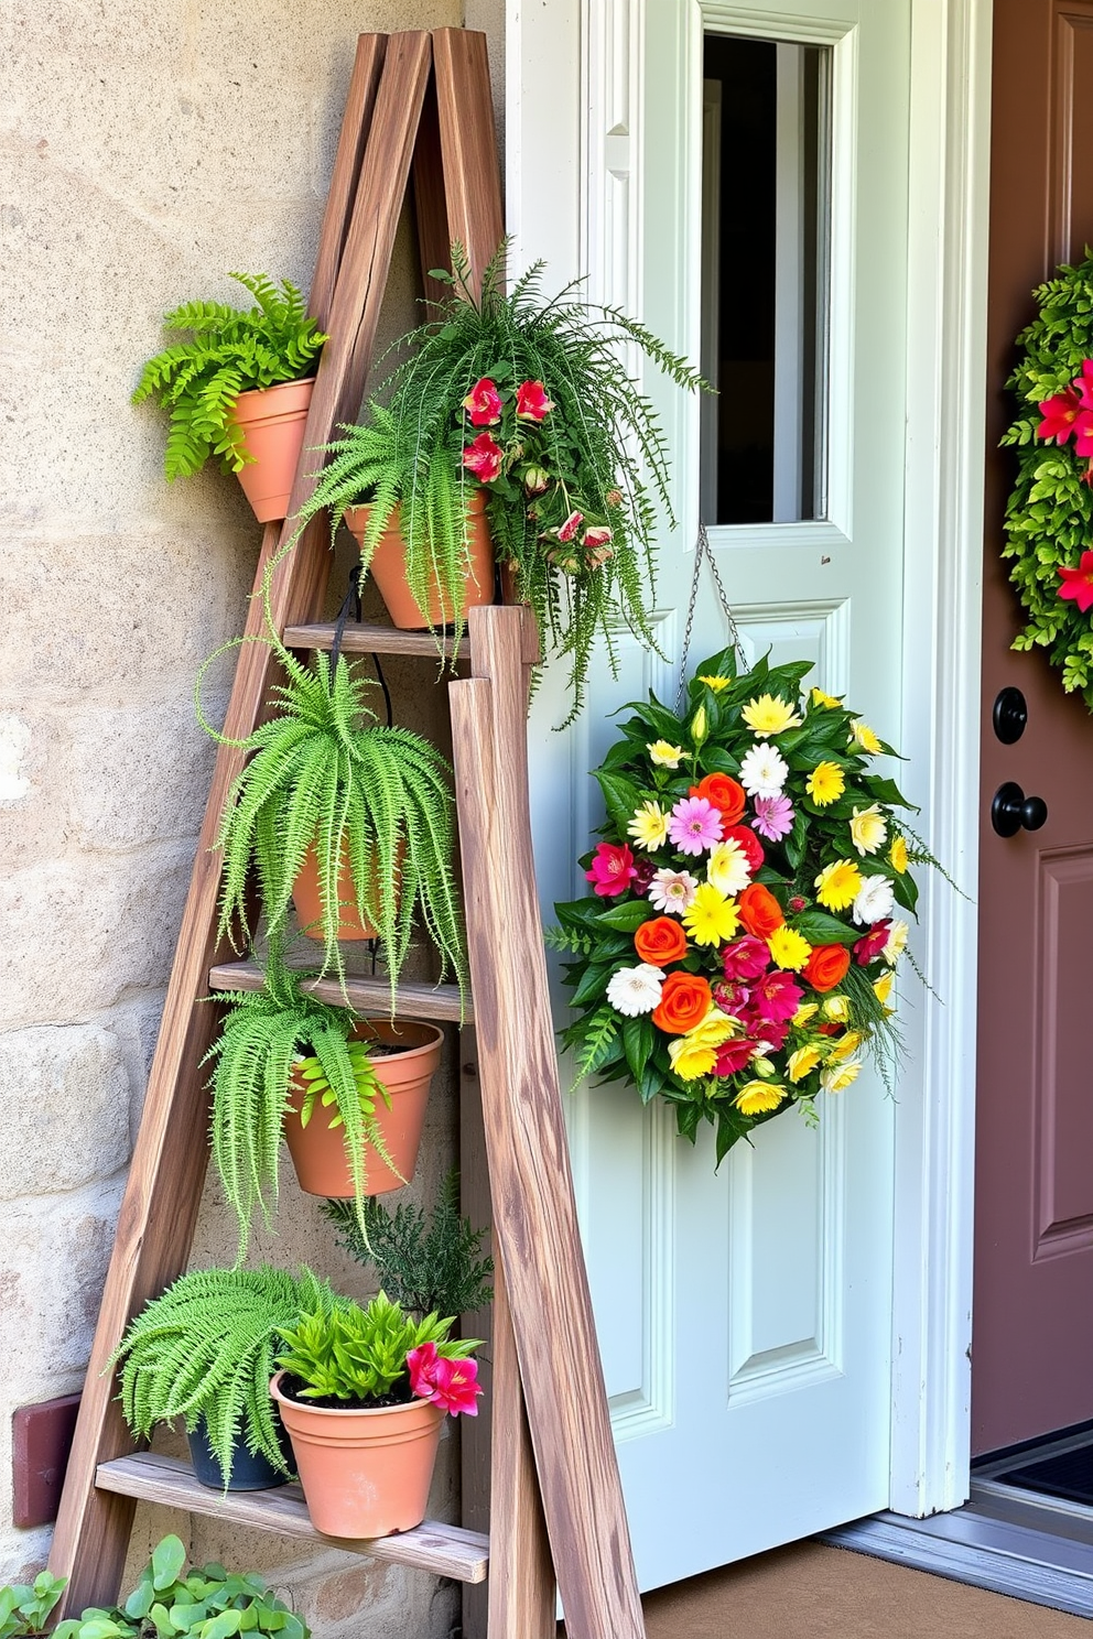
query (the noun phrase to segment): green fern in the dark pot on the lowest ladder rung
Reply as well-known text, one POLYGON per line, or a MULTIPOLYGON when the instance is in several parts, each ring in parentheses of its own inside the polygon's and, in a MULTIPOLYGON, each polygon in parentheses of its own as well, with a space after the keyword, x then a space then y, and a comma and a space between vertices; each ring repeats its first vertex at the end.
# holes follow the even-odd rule
POLYGON ((269 1380, 282 1339, 302 1313, 334 1303, 326 1282, 280 1269, 195 1269, 136 1314, 111 1365, 121 1364, 121 1411, 131 1432, 149 1439, 156 1423, 202 1418, 224 1487, 239 1439, 280 1473, 269 1380))

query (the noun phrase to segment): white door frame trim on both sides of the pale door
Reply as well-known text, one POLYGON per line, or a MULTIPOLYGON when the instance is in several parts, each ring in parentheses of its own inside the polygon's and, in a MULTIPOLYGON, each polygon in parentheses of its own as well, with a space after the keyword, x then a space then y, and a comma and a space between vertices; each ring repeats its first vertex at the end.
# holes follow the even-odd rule
MULTIPOLYGON (((719 0, 716 11, 742 31, 769 23, 757 5, 719 0)), ((641 15, 642 0, 506 0, 505 20, 513 267, 544 257, 549 290, 590 274, 593 293, 629 292, 631 308, 641 74, 628 36, 641 15)), ((911 0, 901 747, 921 828, 967 893, 978 852, 990 34, 991 0, 911 0)), ((964 1503, 970 1460, 977 923, 975 905, 931 875, 918 954, 936 997, 914 997, 896 1106, 890 1506, 914 1516, 964 1503)))

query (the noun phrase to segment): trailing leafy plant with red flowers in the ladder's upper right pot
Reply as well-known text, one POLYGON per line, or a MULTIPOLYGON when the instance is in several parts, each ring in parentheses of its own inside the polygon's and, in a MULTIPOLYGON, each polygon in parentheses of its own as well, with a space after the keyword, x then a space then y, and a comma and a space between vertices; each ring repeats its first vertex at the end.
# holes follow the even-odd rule
POLYGON ((424 608, 433 574, 457 583, 470 549, 469 500, 485 493, 498 564, 534 610, 542 652, 569 664, 572 720, 582 708, 596 639, 615 665, 621 618, 655 647, 652 603, 659 516, 673 526, 669 456, 647 397, 623 349, 685 390, 701 377, 618 308, 593 306, 569 285, 542 297, 536 264, 505 290, 505 246, 474 288, 452 247, 451 298, 403 336, 403 356, 361 426, 328 449, 306 521, 321 506, 336 526, 346 506, 369 503, 367 565, 400 510, 406 575, 424 608), (420 595, 421 593, 421 595, 420 595))

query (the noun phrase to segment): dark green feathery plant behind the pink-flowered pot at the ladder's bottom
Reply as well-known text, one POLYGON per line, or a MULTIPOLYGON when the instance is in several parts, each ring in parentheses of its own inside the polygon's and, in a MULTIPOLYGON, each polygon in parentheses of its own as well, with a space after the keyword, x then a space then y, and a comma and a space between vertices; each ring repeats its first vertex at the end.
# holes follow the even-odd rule
POLYGON ((428 1224, 424 1208, 405 1201, 393 1211, 370 1198, 364 1205, 367 1237, 349 1201, 324 1201, 338 1242, 361 1264, 370 1264, 379 1283, 410 1314, 469 1314, 493 1296, 493 1259, 482 1257, 485 1229, 459 1216, 459 1174, 441 1185, 428 1224))

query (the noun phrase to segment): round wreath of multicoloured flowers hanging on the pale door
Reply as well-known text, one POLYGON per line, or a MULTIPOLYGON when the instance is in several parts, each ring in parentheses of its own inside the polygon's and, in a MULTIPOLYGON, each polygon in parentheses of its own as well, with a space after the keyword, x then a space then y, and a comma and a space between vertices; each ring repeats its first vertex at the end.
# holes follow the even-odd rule
MULTIPOLYGON (((718 1162, 762 1121, 849 1087, 869 1046, 891 1064, 888 998, 929 862, 896 821, 895 756, 810 661, 737 677, 726 649, 690 682, 685 716, 633 703, 595 770, 601 841, 592 890, 556 905, 547 942, 569 952, 580 1075, 660 1095, 718 1162)), ((885 1070, 887 1074, 887 1070, 885 1070)), ((887 1080, 890 1080, 887 1074, 887 1080)))

